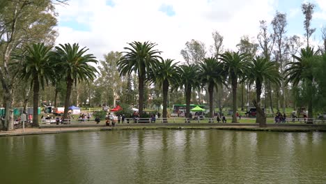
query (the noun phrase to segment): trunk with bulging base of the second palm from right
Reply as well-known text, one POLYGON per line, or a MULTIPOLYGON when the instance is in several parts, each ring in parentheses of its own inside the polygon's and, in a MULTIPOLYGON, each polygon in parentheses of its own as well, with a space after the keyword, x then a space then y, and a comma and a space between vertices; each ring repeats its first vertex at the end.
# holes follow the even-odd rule
POLYGON ((266 114, 261 109, 261 81, 256 80, 256 100, 253 100, 253 103, 256 107, 256 123, 259 123, 260 128, 267 127, 266 123, 266 114))

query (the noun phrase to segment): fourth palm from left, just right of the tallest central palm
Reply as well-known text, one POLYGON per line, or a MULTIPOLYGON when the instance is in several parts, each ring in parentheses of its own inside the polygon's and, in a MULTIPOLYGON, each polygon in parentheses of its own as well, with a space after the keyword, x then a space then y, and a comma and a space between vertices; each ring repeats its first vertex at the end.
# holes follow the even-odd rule
MULTIPOLYGON (((167 115, 167 95, 170 84, 176 84, 178 80, 177 64, 173 63, 173 59, 166 59, 155 64, 153 74, 150 75, 150 81, 155 82, 163 90, 163 118, 167 115)), ((166 119, 164 122, 167 123, 166 119)))

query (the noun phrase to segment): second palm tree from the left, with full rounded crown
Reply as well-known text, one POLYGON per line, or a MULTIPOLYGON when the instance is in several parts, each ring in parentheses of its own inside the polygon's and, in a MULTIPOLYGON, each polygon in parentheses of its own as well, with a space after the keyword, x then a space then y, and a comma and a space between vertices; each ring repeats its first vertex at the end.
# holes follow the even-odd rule
POLYGON ((65 73, 67 82, 67 91, 65 93, 65 111, 63 118, 68 118, 68 107, 70 106, 70 95, 72 84, 77 82, 89 82, 95 78, 95 72, 98 72, 95 67, 89 63, 98 63, 93 54, 85 54, 88 51, 86 47, 79 49, 78 43, 70 45, 60 44, 56 47, 56 52, 53 53, 53 60, 56 61, 56 66, 61 66, 61 70, 65 73))

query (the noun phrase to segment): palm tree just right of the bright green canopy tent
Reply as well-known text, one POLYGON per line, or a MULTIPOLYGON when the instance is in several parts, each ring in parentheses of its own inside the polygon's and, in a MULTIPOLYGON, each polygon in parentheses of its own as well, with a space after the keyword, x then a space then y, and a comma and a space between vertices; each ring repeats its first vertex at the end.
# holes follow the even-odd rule
POLYGON ((210 98, 210 118, 213 118, 213 93, 217 84, 224 84, 225 72, 222 63, 219 63, 215 57, 205 58, 200 65, 200 79, 203 84, 208 85, 210 98))

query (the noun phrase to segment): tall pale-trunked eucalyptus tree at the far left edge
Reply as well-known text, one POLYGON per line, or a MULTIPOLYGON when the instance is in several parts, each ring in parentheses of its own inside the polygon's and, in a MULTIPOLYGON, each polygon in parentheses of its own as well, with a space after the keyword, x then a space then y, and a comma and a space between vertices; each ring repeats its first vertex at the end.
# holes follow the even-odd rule
POLYGON ((17 77, 10 70, 11 55, 32 42, 53 43, 56 17, 52 1, 1 1, 0 10, 0 82, 6 117, 3 129, 13 129, 13 102, 17 77))

